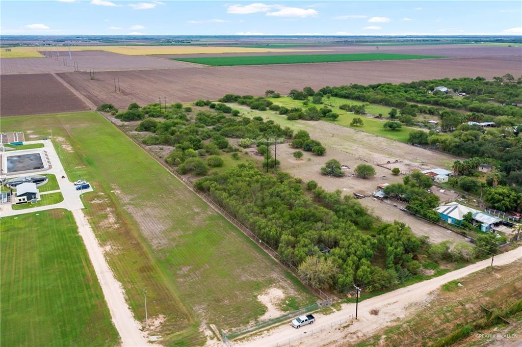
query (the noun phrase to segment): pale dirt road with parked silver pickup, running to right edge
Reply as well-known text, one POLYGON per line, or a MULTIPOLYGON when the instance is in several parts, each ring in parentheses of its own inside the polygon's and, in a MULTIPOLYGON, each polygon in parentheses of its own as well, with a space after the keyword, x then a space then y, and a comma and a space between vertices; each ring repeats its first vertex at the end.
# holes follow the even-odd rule
MULTIPOLYGON (((494 265, 509 264, 522 258, 522 247, 498 255, 494 265)), ((329 315, 317 314, 315 325, 294 329, 287 324, 274 328, 266 333, 234 343, 238 346, 326 346, 335 345, 340 341, 355 341, 367 336, 377 329, 392 323, 396 318, 406 315, 407 309, 419 305, 430 297, 430 292, 452 280, 487 268, 491 259, 486 259, 465 268, 449 272, 441 277, 412 284, 383 295, 364 300, 359 305, 359 319, 351 324, 346 321, 355 313, 355 304, 343 304, 341 309, 329 315), (378 315, 370 314, 372 309, 378 310, 378 315), (345 322, 339 326, 339 321, 345 322)))

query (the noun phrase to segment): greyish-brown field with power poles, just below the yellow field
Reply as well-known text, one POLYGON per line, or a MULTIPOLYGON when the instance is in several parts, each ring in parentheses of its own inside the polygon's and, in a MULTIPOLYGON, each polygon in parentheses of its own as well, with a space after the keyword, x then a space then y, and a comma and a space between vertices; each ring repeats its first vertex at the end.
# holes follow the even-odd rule
POLYGON ((72 58, 69 60, 69 53, 62 52, 56 60, 56 52, 53 52, 51 58, 3 59, 0 74, 66 73, 74 71, 75 63, 80 71, 182 69, 200 66, 146 55, 123 55, 103 51, 72 52, 72 58), (67 65, 64 65, 64 58, 67 65))

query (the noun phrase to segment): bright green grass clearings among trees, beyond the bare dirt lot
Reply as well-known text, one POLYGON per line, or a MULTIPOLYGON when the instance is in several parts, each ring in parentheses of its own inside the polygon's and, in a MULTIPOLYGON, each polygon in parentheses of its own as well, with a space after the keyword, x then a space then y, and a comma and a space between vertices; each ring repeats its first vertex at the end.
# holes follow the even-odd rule
MULTIPOLYGON (((268 98, 268 99, 270 99, 275 104, 283 105, 286 107, 306 108, 306 107, 315 106, 318 109, 323 107, 323 105, 316 105, 313 103, 309 103, 307 106, 304 106, 302 101, 293 100, 290 97, 281 97, 281 98, 275 98, 275 99, 268 98)), ((327 102, 331 103, 332 105, 341 105, 343 103, 356 103, 356 101, 351 101, 351 100, 346 100, 346 99, 341 99, 341 98, 334 98, 334 97, 332 97, 330 99, 325 98, 324 100, 327 100, 327 102)), ((362 102, 360 102, 360 104, 362 104, 362 102)), ((387 109, 391 110, 391 107, 386 107, 386 106, 380 106, 380 105, 370 105, 370 106, 375 107, 375 111, 380 111, 377 113, 383 113, 385 115, 387 115, 387 112, 386 112, 387 109)), ((366 110, 368 112, 370 112, 370 106, 366 107, 366 110)), ((329 121, 329 122, 334 123, 334 124, 339 124, 339 125, 342 125, 347 128, 354 129, 354 130, 362 130, 362 131, 365 131, 366 133, 376 135, 376 136, 381 136, 381 137, 384 137, 384 138, 387 138, 390 140, 397 140, 397 141, 406 143, 408 141, 408 137, 409 137, 409 134, 411 133, 411 131, 417 130, 417 129, 410 128, 410 127, 407 127, 404 125, 399 130, 386 130, 383 128, 383 123, 386 122, 387 119, 377 119, 377 118, 372 118, 372 117, 366 117, 366 116, 362 116, 362 115, 348 113, 347 111, 341 110, 338 107, 334 107, 334 106, 329 106, 329 107, 335 113, 339 114, 339 118, 336 121, 329 121), (355 118, 355 117, 359 117, 362 119, 362 121, 363 121, 362 126, 350 126, 350 123, 352 122, 353 118, 355 118)), ((283 125, 281 123, 281 119, 284 119, 284 121, 286 121, 286 122, 290 122, 290 124, 291 124, 291 122, 294 122, 294 121, 287 121, 286 116, 279 116, 275 111, 264 111, 264 112, 268 112, 268 113, 271 113, 272 115, 274 115, 275 120, 277 119, 277 122, 281 125, 283 125)), ((310 121, 310 123, 313 123, 313 121, 310 121)), ((284 126, 289 126, 290 124, 285 123, 284 126)))

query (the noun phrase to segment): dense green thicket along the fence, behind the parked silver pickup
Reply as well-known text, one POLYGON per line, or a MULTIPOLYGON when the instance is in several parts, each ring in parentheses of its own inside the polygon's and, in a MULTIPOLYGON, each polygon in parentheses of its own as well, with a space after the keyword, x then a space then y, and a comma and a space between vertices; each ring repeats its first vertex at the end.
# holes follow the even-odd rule
POLYGON ((246 164, 196 182, 198 189, 322 288, 340 289, 375 278, 390 286, 408 268, 418 270, 412 262, 420 241, 408 226, 375 225, 353 198, 309 186, 312 197, 304 193, 298 178, 282 172, 266 175, 246 164), (377 255, 385 257, 384 268, 372 265, 377 255), (315 258, 310 257, 323 259, 317 264, 319 268, 328 264, 331 277, 314 273, 310 259, 315 258))

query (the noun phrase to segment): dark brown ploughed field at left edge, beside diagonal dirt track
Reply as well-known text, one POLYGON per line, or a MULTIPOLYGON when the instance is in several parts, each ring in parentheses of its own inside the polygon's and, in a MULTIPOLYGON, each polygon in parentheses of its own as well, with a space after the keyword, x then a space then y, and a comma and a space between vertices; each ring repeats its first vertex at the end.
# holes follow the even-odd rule
POLYGON ((2 76, 0 99, 2 116, 89 109, 51 74, 2 76))

